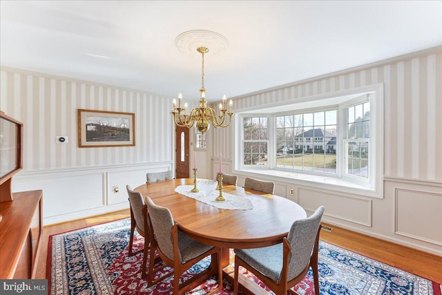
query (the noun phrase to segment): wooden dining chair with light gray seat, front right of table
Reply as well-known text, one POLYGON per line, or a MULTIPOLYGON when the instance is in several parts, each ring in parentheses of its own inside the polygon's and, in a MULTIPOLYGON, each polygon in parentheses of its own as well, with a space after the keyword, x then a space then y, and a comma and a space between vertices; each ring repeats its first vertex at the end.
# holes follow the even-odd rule
POLYGON ((296 220, 282 243, 256 249, 235 249, 234 294, 238 294, 239 267, 245 267, 276 295, 297 294, 291 287, 313 271, 315 294, 319 295, 318 245, 320 220, 325 208, 320 206, 308 218, 296 220))

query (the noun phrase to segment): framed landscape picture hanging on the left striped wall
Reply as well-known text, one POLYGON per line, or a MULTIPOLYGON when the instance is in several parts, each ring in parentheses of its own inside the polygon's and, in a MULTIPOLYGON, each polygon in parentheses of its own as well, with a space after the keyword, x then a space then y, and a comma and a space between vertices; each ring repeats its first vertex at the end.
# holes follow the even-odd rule
POLYGON ((78 146, 135 146, 135 113, 79 109, 78 146))

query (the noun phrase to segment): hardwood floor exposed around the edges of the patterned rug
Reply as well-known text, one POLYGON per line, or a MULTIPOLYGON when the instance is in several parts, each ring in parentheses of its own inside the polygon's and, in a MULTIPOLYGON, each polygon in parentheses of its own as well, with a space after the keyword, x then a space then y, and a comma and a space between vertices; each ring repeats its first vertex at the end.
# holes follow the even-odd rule
MULTIPOLYGON (((130 211, 127 209, 107 213, 102 216, 93 216, 81 220, 61 223, 59 225, 44 227, 44 233, 41 237, 41 249, 39 251, 36 278, 46 278, 46 258, 48 254, 49 236, 129 216, 130 211)), ((377 238, 371 238, 363 234, 348 231, 347 229, 335 227, 334 225, 324 225, 332 227, 333 230, 331 232, 322 230, 320 233, 320 240, 349 249, 358 254, 381 261, 387 265, 392 265, 407 272, 411 272, 412 274, 416 274, 417 276, 422 276, 423 278, 434 280, 437 283, 442 284, 441 256, 404 247, 392 242, 379 240, 377 238)))

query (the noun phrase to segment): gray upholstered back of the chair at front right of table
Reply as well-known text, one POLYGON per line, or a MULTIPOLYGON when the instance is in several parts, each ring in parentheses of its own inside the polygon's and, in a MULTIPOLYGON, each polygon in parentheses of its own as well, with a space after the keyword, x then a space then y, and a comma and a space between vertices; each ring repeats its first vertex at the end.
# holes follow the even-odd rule
POLYGON ((324 210, 324 206, 320 206, 313 215, 296 220, 291 225, 287 236, 291 246, 287 273, 288 280, 296 278, 309 264, 312 251, 319 236, 320 220, 323 218, 324 210))

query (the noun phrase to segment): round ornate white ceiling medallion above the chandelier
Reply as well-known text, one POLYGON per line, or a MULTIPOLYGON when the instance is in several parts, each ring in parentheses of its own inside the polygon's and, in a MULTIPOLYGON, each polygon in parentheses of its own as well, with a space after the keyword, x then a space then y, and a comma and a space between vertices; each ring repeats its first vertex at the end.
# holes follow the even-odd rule
POLYGON ((175 46, 186 55, 198 55, 200 47, 210 48, 211 55, 220 55, 227 52, 229 45, 226 37, 210 30, 188 30, 175 39, 175 46))

